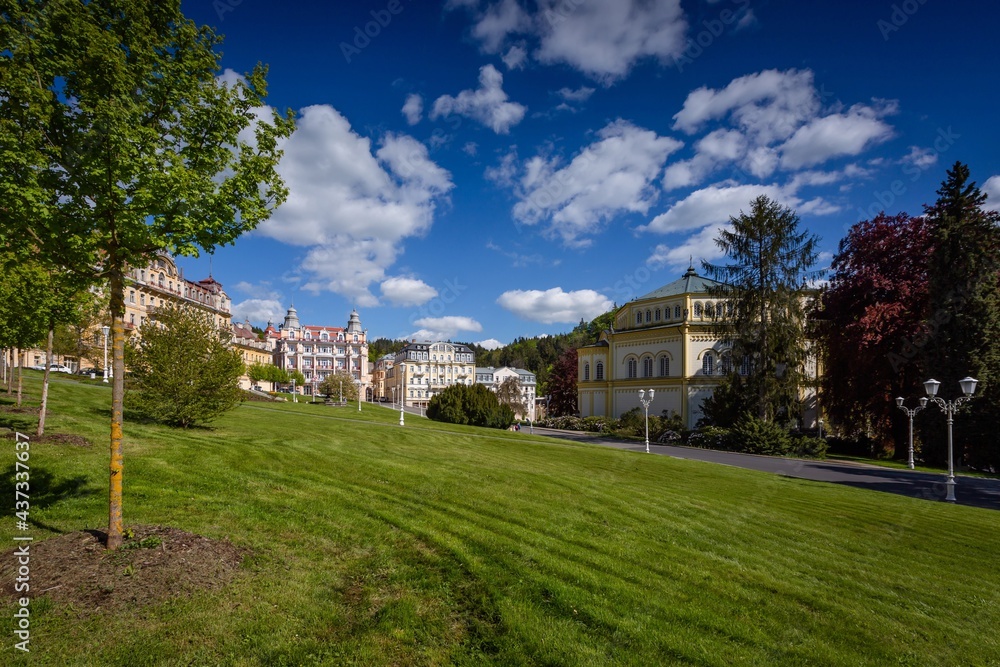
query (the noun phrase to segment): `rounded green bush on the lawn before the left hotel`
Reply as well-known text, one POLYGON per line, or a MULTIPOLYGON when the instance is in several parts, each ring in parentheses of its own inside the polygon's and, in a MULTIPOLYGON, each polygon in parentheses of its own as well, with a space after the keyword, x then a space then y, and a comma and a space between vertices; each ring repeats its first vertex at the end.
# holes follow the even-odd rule
POLYGON ((126 405, 151 419, 189 427, 209 422, 243 400, 243 360, 229 334, 194 309, 156 310, 126 346, 126 405))

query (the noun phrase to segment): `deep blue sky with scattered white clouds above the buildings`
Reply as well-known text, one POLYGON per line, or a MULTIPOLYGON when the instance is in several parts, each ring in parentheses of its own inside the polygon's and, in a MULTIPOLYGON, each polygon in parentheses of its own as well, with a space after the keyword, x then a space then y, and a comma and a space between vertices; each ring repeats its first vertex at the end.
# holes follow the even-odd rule
MULTIPOLYGON (((508 343, 676 279, 767 194, 820 237, 1000 203, 992 3, 184 2, 297 114, 288 202, 220 249, 234 318, 508 343)), ((209 259, 181 260, 188 278, 209 259)))

